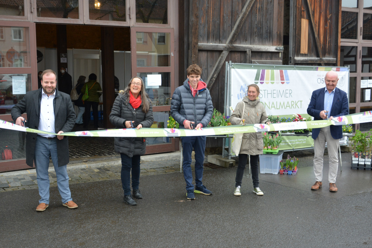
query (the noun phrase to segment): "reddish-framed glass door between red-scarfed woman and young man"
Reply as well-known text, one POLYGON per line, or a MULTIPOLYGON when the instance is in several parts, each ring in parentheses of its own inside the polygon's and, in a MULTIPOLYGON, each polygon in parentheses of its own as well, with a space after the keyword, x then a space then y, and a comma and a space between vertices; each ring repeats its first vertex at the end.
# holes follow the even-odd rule
MULTIPOLYGON (((141 77, 153 103, 152 128, 166 128, 174 91, 174 32, 167 28, 131 28, 132 77, 141 77)), ((126 82, 128 83, 128 82, 126 82)), ((178 139, 147 138, 146 153, 178 149, 178 139)))

